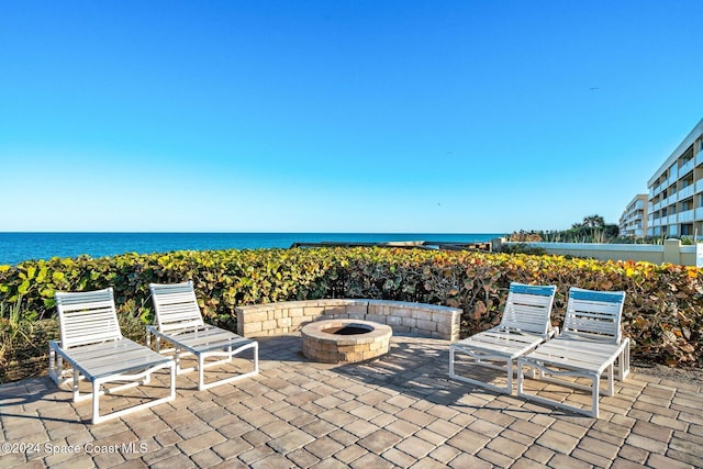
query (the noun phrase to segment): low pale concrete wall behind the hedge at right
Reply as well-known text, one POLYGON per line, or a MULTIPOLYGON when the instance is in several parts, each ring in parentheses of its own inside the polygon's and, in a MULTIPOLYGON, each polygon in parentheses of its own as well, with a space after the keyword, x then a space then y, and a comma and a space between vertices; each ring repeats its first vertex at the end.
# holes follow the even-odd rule
MULTIPOLYGON (((600 260, 635 260, 652 264, 696 265, 696 246, 681 245, 679 239, 667 239, 663 245, 656 244, 607 244, 607 243, 512 243, 504 238, 493 241, 493 250, 501 246, 526 245, 540 247, 547 254, 558 256, 587 257, 600 260)), ((700 249, 703 250, 703 247, 700 249)))

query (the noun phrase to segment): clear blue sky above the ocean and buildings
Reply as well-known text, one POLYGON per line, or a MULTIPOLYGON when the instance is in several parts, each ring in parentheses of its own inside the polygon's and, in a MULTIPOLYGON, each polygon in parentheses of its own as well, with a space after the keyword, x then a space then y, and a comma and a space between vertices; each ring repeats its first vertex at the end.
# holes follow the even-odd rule
POLYGON ((0 231, 616 223, 703 118, 701 1, 0 5, 0 231))

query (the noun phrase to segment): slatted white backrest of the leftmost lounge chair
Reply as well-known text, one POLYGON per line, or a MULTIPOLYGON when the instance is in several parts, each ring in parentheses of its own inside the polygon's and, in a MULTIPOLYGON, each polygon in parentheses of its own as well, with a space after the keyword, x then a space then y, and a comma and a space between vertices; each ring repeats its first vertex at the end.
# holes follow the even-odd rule
POLYGON ((62 347, 122 339, 112 288, 74 293, 57 291, 54 298, 62 347))

